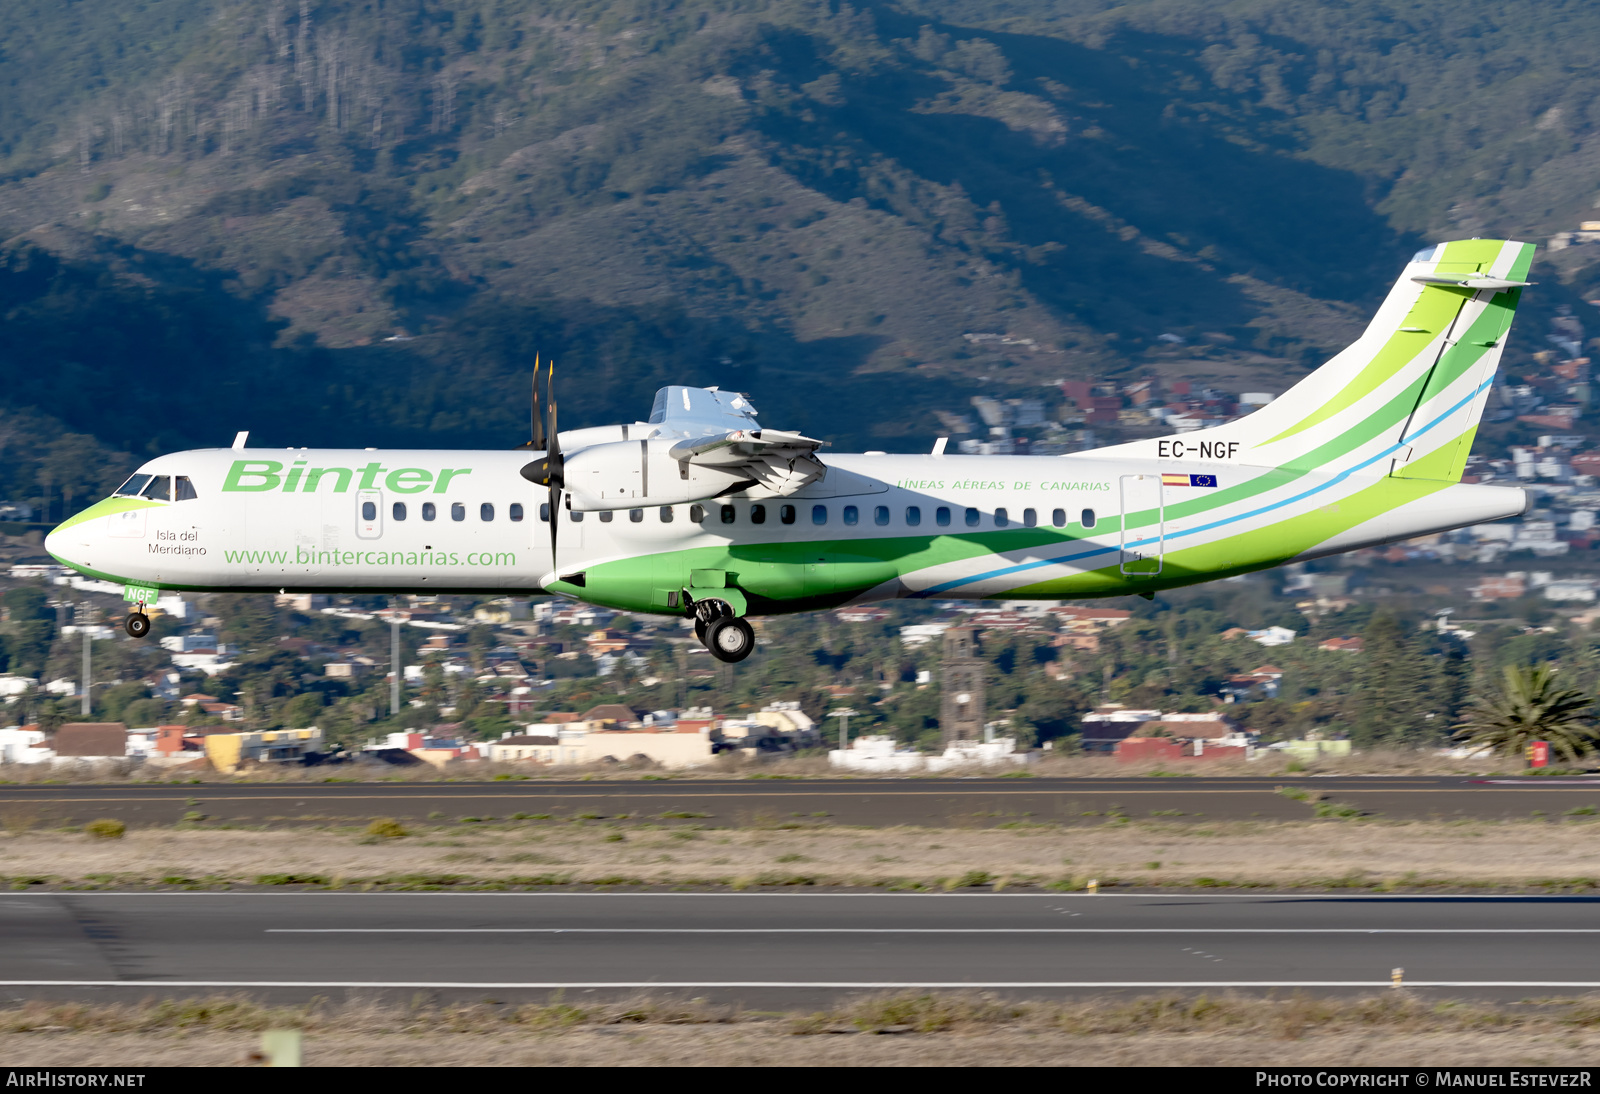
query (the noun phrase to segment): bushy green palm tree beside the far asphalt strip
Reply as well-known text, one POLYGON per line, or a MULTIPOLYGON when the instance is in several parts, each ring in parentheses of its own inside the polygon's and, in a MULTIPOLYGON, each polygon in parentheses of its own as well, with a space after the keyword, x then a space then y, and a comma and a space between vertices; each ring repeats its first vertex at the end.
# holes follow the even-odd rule
POLYGON ((1594 747, 1592 705, 1594 699, 1581 691, 1557 688, 1550 665, 1506 665, 1498 694, 1475 697, 1454 736, 1506 757, 1526 755, 1531 742, 1549 741, 1568 760, 1578 760, 1594 747))

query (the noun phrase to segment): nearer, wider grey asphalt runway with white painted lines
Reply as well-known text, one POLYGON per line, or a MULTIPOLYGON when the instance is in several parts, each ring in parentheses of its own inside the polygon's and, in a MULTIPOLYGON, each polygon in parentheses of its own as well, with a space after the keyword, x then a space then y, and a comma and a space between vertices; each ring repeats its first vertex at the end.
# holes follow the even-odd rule
POLYGON ((1213 894, 0 896, 0 996, 894 990, 1453 998, 1600 988, 1600 899, 1213 894))

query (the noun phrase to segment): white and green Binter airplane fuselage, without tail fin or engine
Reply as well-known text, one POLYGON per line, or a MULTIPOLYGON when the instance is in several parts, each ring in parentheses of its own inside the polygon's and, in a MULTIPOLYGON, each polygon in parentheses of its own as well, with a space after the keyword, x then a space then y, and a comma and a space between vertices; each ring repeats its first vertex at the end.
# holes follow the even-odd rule
MULTIPOLYGON (((565 435, 563 435, 565 437, 565 435)), ((48 550, 179 590, 547 590, 680 614, 1149 593, 1514 517, 1520 489, 1093 454, 830 454, 797 493, 557 513, 538 453, 200 449, 149 461, 48 550), (179 483, 179 478, 184 483, 179 483), (190 496, 192 494, 192 496, 190 496), (722 590, 722 592, 714 592, 722 590)))

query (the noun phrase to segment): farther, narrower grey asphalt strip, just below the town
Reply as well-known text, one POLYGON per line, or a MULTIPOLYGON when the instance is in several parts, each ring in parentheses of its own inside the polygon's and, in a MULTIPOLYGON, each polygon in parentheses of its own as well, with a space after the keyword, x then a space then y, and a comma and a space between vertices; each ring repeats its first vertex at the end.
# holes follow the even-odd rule
POLYGON ((1277 792, 1282 785, 1403 820, 1530 819, 1571 809, 1600 811, 1600 777, 59 784, 0 787, 0 824, 50 827, 112 817, 130 825, 170 825, 189 814, 218 824, 549 816, 710 827, 770 827, 792 820, 870 827, 1098 824, 1106 814, 1118 813, 1131 819, 1173 820, 1312 817, 1314 806, 1283 797, 1277 792))

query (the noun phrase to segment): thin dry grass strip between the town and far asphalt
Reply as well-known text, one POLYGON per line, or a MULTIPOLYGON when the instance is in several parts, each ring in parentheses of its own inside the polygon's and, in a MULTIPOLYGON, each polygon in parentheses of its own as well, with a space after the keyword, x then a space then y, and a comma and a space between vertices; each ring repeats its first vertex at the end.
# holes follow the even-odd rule
MULTIPOLYGON (((1019 769, 952 769, 926 779, 960 779, 973 774, 998 776, 1019 769)), ((1042 753, 1040 761, 1024 771, 1029 777, 1050 779, 1118 779, 1158 776, 1336 776, 1336 774, 1384 774, 1384 776, 1480 776, 1526 774, 1518 761, 1506 758, 1453 760, 1432 752, 1403 749, 1371 749, 1352 757, 1323 757, 1298 761, 1280 753, 1264 753, 1254 761, 1246 760, 1195 760, 1179 763, 1138 761, 1123 763, 1110 757, 1069 757, 1042 753)), ((405 768, 331 765, 315 768, 253 765, 238 774, 226 776, 211 769, 168 769, 133 761, 85 763, 53 768, 40 763, 0 765, 0 785, 78 784, 78 782, 155 782, 155 784, 208 784, 208 782, 482 782, 482 781, 555 781, 581 779, 586 782, 632 782, 640 779, 904 779, 906 776, 848 774, 829 768, 827 758, 814 755, 774 755, 744 758, 742 753, 723 753, 712 765, 693 771, 662 771, 651 766, 630 765, 578 765, 555 766, 536 763, 486 763, 454 761, 443 768, 418 763, 405 768)))

